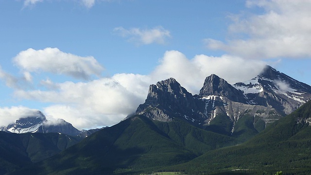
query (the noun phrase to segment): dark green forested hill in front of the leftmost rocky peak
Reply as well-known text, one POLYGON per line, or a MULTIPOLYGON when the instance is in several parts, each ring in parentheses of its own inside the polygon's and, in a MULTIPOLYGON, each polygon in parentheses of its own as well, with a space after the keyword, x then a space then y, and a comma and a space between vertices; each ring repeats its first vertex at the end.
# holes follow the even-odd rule
POLYGON ((137 174, 237 143, 183 120, 162 122, 135 115, 14 174, 137 174))

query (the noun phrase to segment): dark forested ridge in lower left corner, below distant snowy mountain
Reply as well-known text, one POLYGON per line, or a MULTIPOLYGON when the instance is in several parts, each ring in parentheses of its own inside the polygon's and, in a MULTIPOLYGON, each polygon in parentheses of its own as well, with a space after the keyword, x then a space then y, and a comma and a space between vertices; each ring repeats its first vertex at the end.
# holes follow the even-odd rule
POLYGON ((58 133, 15 134, 0 131, 0 175, 51 157, 80 140, 79 137, 58 133))

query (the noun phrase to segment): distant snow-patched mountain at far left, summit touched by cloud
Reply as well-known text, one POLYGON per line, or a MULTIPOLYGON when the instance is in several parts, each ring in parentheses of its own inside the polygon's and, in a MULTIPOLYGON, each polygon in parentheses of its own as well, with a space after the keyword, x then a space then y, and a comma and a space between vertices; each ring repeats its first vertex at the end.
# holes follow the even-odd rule
POLYGON ((62 133, 69 136, 87 137, 90 134, 98 131, 93 130, 78 130, 71 123, 65 120, 58 119, 55 123, 48 121, 41 111, 37 111, 34 116, 18 119, 15 123, 8 126, 0 127, 0 131, 8 133, 62 133))

